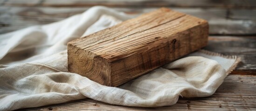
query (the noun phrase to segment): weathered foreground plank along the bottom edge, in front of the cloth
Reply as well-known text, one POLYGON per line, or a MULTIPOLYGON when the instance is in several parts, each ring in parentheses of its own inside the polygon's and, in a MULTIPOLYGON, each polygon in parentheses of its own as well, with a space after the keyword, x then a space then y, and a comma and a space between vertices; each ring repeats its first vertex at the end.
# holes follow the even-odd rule
POLYGON ((21 109, 22 111, 87 111, 87 110, 118 110, 118 111, 161 111, 161 110, 256 110, 256 76, 228 75, 217 91, 204 98, 181 98, 177 104, 165 107, 127 107, 110 105, 92 99, 81 99, 57 105, 21 109))

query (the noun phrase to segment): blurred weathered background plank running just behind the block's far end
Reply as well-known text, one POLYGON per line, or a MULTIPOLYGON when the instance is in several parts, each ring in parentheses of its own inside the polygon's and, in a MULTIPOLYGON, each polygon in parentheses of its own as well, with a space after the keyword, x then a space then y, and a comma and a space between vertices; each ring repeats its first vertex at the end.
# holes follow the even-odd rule
MULTIPOLYGON (((82 13, 89 7, 0 7, 0 33, 15 31, 32 25, 43 25, 66 19, 67 17, 82 13)), ((151 12, 157 8, 114 8, 129 14, 141 14, 151 12)), ((241 13, 227 14, 226 9, 217 8, 172 8, 175 11, 184 12, 202 19, 208 20, 210 35, 253 35, 256 34, 256 16, 248 11, 248 16, 241 13), (240 18, 240 19, 239 19, 240 18), (249 19, 250 18, 250 19, 249 19)), ((232 10, 231 10, 232 11, 232 10)))

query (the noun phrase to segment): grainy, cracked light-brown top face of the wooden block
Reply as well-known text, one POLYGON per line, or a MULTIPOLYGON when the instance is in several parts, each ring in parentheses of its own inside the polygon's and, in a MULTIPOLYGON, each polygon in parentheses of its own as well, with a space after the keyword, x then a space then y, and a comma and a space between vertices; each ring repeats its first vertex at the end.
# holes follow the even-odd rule
POLYGON ((145 13, 68 44, 101 56, 109 62, 144 52, 174 39, 175 35, 207 21, 168 8, 145 13), (170 35, 173 35, 170 37, 170 35))

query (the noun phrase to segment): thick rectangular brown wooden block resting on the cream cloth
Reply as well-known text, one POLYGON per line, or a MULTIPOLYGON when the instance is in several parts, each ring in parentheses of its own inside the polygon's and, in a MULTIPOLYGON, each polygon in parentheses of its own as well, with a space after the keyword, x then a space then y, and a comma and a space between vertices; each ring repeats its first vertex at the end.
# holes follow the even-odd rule
POLYGON ((69 71, 119 86, 208 43, 208 22, 167 8, 68 43, 69 71))

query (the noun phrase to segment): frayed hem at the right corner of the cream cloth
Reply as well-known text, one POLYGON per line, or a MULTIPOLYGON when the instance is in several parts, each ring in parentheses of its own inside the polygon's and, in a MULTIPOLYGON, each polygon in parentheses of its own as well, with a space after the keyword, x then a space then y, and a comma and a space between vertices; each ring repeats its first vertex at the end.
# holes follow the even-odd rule
POLYGON ((209 55, 209 56, 220 56, 220 57, 223 57, 223 58, 227 58, 227 59, 235 59, 235 62, 231 65, 230 68, 228 68, 228 70, 226 71, 226 74, 230 74, 235 68, 236 66, 238 65, 239 62, 241 62, 241 57, 237 57, 237 56, 226 56, 226 55, 222 55, 220 53, 217 53, 217 52, 211 52, 211 51, 208 51, 208 50, 204 50, 204 49, 201 49, 199 50, 200 52, 206 54, 206 55, 209 55))

